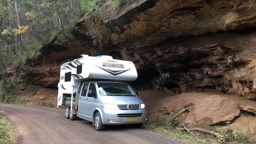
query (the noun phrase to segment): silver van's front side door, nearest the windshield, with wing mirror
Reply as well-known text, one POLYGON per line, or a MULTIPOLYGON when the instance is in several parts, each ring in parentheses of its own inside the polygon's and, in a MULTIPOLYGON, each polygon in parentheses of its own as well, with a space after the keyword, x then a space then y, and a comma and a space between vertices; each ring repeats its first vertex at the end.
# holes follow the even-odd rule
POLYGON ((97 92, 96 92, 96 87, 94 83, 90 83, 89 85, 89 90, 87 92, 87 97, 85 101, 85 115, 90 117, 92 121, 92 113, 95 107, 97 107, 97 92))

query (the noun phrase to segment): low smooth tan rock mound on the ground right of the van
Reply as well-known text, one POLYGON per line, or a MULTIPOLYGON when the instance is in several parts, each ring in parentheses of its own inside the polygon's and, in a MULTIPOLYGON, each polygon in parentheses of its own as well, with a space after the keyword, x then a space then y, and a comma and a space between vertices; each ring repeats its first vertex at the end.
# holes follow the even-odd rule
MULTIPOLYGON (((250 107, 251 108, 251 107, 250 107)), ((181 122, 191 126, 223 123, 239 116, 239 104, 228 98, 210 93, 182 93, 156 100, 150 113, 176 113, 181 122)))

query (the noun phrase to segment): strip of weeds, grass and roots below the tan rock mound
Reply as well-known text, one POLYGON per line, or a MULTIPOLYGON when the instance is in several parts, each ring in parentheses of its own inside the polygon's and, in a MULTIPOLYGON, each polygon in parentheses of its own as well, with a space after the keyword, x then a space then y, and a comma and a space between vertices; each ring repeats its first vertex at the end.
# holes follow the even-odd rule
MULTIPOLYGON (((210 125, 194 128, 188 124, 179 124, 174 113, 171 113, 167 119, 160 116, 149 117, 147 122, 143 124, 143 128, 162 133, 166 136, 185 141, 188 143, 196 144, 246 144, 253 143, 249 137, 252 135, 247 134, 239 128, 239 125, 231 129, 230 121, 226 121, 223 126, 221 125, 210 125)), ((256 133, 255 133, 256 134, 256 133)), ((255 135, 254 134, 254 135, 255 135)))

